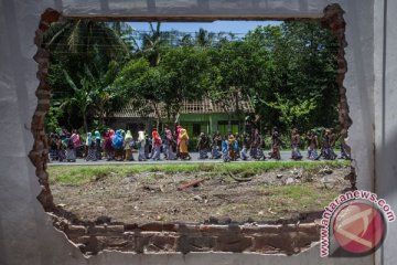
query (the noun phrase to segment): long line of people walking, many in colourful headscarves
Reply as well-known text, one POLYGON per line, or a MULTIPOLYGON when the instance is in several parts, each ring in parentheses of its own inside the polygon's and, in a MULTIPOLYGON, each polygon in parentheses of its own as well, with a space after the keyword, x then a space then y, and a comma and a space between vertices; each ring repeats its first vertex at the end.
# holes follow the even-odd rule
MULTIPOLYGON (((243 132, 221 135, 215 132, 212 137, 201 132, 195 147, 198 151, 198 159, 223 159, 223 161, 235 160, 280 160, 281 147, 286 144, 281 140, 281 135, 277 127, 271 130, 270 152, 265 153, 265 139, 259 129, 253 129, 251 134, 243 132)), ((304 137, 301 137, 299 130, 293 128, 290 136, 291 159, 301 160, 300 148, 305 140, 307 158, 310 160, 334 160, 337 158, 334 149, 336 144, 336 134, 332 128, 323 129, 322 142, 319 144, 319 136, 315 130, 310 130, 304 137)), ((190 137, 187 130, 181 125, 176 125, 174 130, 165 126, 160 134, 153 129, 150 135, 144 128, 138 131, 133 137, 130 130, 107 129, 103 134, 99 130, 87 132, 85 140, 77 132, 68 132, 63 129, 61 132, 53 132, 49 136, 50 161, 76 161, 83 158, 86 161, 147 161, 152 160, 190 160, 189 153, 190 137), (137 158, 133 152, 137 150, 137 158), (162 156, 163 155, 163 158, 162 156)), ((350 155, 341 145, 341 157, 350 159, 350 155)))

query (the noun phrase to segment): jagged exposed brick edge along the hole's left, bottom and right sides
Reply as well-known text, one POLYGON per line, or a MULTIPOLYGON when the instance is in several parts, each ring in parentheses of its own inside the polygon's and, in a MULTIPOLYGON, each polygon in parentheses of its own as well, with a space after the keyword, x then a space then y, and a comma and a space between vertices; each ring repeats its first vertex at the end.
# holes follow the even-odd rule
MULTIPOLYGON (((249 234, 254 233, 254 230, 250 231, 244 229, 243 226, 238 226, 238 224, 224 225, 221 230, 211 224, 189 225, 183 223, 171 224, 158 222, 137 225, 133 223, 126 224, 121 222, 109 222, 107 216, 98 219, 97 223, 95 223, 81 221, 73 213, 55 206, 53 195, 50 190, 49 174, 46 172, 49 144, 44 132, 44 118, 50 108, 51 98, 51 87, 47 82, 50 53, 42 47, 42 35, 43 32, 49 29, 50 24, 58 21, 60 18, 61 14, 56 11, 47 10, 43 13, 40 29, 36 31, 35 43, 39 46, 39 50, 35 55, 35 61, 39 63, 37 75, 40 77, 40 86, 36 91, 39 106, 32 120, 32 132, 34 135, 35 142, 33 150, 30 153, 30 158, 36 167, 36 174, 43 187, 43 190, 39 195, 39 200, 42 202, 47 212, 54 213, 53 218, 55 226, 63 230, 72 242, 79 244, 84 253, 97 253, 104 248, 115 248, 135 251, 137 253, 169 251, 187 253, 190 251, 211 250, 242 252, 251 250, 253 252, 285 252, 291 254, 308 247, 310 242, 318 239, 318 227, 313 223, 309 223, 307 226, 303 226, 305 230, 311 231, 312 235, 302 239, 302 242, 300 242, 301 245, 299 246, 293 246, 296 243, 292 244, 291 239, 288 239, 288 233, 293 231, 294 227, 288 225, 277 226, 278 224, 275 224, 276 226, 267 226, 267 229, 264 227, 261 230, 264 235, 276 229, 280 232, 280 242, 287 241, 291 243, 289 245, 286 244, 285 246, 280 243, 278 247, 270 247, 268 245, 260 246, 259 242, 253 242, 253 237, 250 237, 249 234), (198 239, 194 235, 197 231, 200 233, 198 239), (224 239, 224 233, 230 231, 235 231, 236 239, 239 242, 237 246, 230 245, 230 242, 228 242, 227 239, 224 239), (196 241, 200 241, 200 243, 196 241)), ((343 20, 343 11, 339 6, 330 6, 324 10, 324 17, 319 19, 318 22, 321 23, 323 28, 331 30, 331 32, 336 36, 340 46, 337 51, 339 70, 336 73, 336 83, 340 93, 339 121, 341 125, 341 135, 343 138, 346 138, 347 129, 352 121, 348 117, 348 106, 345 96, 345 88, 343 87, 344 74, 346 72, 346 61, 344 59, 344 46, 346 45, 344 40, 345 22, 343 20)), ((348 147, 346 146, 346 148, 348 147)), ((352 186, 354 186, 354 172, 352 172, 350 177, 352 178, 352 186)), ((287 220, 283 223, 291 221, 296 220, 287 220)), ((233 241, 236 239, 233 239, 233 241)))

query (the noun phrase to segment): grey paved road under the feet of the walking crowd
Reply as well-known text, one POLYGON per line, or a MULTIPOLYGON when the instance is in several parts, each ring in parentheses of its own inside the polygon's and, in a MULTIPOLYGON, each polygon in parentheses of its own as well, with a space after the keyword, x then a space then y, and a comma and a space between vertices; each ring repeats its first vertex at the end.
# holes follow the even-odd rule
MULTIPOLYGON (((267 155, 269 152, 269 150, 267 150, 265 153, 267 155)), ((291 151, 281 151, 281 162, 282 161, 293 161, 291 159, 291 151)), ((337 153, 337 152, 336 152, 337 153)), ((192 159, 191 160, 160 160, 160 161, 153 161, 151 159, 148 159, 147 161, 106 161, 106 160, 98 160, 98 161, 85 161, 85 159, 77 159, 76 162, 58 162, 58 161, 52 161, 52 162, 49 162, 47 165, 49 166, 56 166, 56 165, 68 165, 68 166, 77 166, 77 165, 133 165, 133 163, 196 163, 196 162, 223 162, 222 159, 198 159, 198 152, 191 152, 190 153, 192 159)), ((339 153, 337 153, 339 155, 339 153)), ((302 156, 303 156, 303 159, 302 160, 307 160, 307 161, 311 161, 311 160, 308 160, 305 158, 305 151, 302 151, 302 156)), ((133 157, 137 158, 137 152, 133 152, 133 157)), ((163 158, 163 156, 161 156, 163 158)), ((267 155, 268 157, 268 155, 267 155)), ((275 159, 266 159, 267 161, 277 161, 275 159)), ((248 161, 255 161, 253 159, 249 159, 248 161)), ((237 161, 234 161, 234 162, 247 162, 247 161, 243 161, 240 159, 238 159, 237 161)))

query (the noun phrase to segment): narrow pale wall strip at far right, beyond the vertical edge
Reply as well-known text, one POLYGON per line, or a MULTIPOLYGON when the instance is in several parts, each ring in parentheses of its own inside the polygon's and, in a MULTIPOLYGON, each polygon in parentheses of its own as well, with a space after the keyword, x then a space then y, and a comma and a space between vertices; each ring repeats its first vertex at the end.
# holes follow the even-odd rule
MULTIPOLYGON (((375 190, 397 211, 397 1, 375 4, 375 190), (385 11, 386 10, 386 11, 385 11)), ((397 222, 377 255, 383 264, 396 264, 397 222)))

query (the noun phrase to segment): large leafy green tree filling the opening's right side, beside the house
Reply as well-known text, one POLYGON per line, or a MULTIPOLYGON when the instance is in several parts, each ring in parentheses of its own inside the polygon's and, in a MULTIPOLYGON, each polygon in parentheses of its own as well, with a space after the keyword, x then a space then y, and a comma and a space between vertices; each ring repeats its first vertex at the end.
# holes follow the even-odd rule
POLYGON ((315 23, 286 22, 258 26, 245 41, 256 47, 255 53, 261 53, 259 57, 265 57, 253 95, 267 127, 287 129, 291 126, 288 120, 297 120, 298 116, 300 120, 294 124, 304 130, 336 124, 337 45, 330 32, 315 23), (287 118, 282 106, 297 106, 297 112, 289 112, 291 117, 287 118), (307 113, 297 116, 303 106, 307 113))

